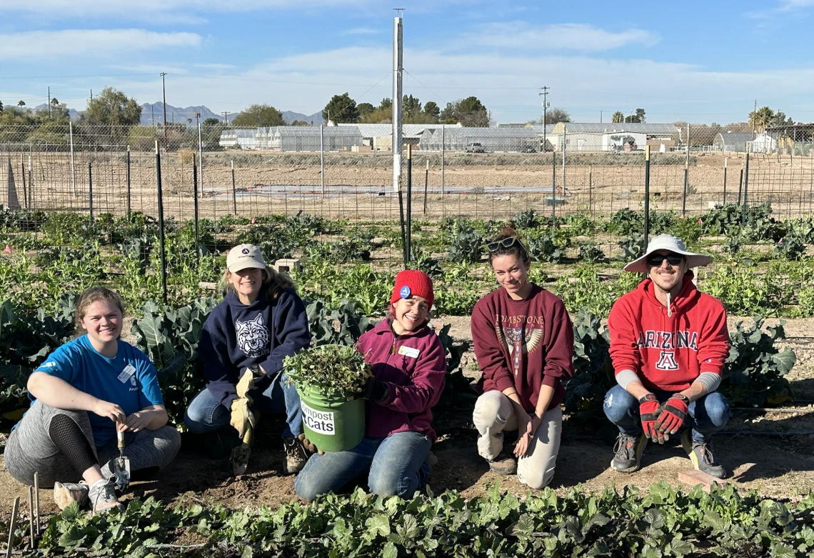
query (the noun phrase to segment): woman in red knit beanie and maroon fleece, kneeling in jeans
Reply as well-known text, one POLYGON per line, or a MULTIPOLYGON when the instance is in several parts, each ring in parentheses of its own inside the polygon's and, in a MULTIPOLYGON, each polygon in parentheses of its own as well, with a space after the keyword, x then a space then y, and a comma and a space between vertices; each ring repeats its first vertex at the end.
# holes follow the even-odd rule
POLYGON ((430 327, 432 279, 422 271, 396 275, 387 318, 359 338, 373 376, 365 437, 352 450, 312 455, 294 483, 312 501, 367 473, 370 492, 412 496, 430 474, 435 442, 431 408, 444 390, 444 347, 430 327))

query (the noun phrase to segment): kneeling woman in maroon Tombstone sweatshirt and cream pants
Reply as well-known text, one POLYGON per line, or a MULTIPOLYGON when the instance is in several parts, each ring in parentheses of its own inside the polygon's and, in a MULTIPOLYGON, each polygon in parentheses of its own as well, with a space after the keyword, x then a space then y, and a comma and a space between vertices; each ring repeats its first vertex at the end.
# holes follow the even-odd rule
POLYGON ((574 331, 562 301, 528 280, 531 260, 519 235, 506 226, 487 245, 500 288, 475 304, 472 339, 484 376, 472 419, 478 453, 494 472, 517 472, 535 489, 554 477, 565 394, 574 374, 574 331), (514 451, 503 433, 518 431, 514 451))

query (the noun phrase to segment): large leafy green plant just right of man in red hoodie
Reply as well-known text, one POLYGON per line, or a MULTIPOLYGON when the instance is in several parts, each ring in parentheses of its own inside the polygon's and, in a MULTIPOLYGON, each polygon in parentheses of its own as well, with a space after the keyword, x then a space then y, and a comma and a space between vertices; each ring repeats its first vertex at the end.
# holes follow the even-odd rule
POLYGON ((729 333, 732 347, 720 390, 730 405, 764 406, 792 399, 786 375, 797 357, 789 347, 781 351, 775 346, 786 338, 784 323, 763 331, 764 319, 755 318, 753 325, 738 322, 729 333))

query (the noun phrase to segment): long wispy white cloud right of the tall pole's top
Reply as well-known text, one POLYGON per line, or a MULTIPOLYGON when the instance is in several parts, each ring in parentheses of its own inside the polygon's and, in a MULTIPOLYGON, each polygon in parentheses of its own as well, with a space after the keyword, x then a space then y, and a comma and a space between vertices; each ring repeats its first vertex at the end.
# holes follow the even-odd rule
POLYGON ((520 21, 485 25, 468 36, 479 46, 545 51, 608 51, 627 45, 653 46, 659 35, 643 29, 615 33, 590 24, 529 25, 520 21))

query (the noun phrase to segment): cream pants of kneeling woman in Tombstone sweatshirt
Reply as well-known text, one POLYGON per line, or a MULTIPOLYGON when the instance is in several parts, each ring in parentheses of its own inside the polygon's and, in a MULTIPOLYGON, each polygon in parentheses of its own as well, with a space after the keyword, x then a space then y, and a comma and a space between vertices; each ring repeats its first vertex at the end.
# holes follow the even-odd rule
MULTIPOLYGON (((478 453, 487 460, 495 459, 501 453, 503 432, 518 429, 514 406, 499 391, 488 391, 478 398, 472 421, 478 430, 478 453)), ((555 406, 545 411, 526 455, 517 461, 520 482, 534 489, 548 486, 554 477, 561 434, 562 409, 555 406)))

